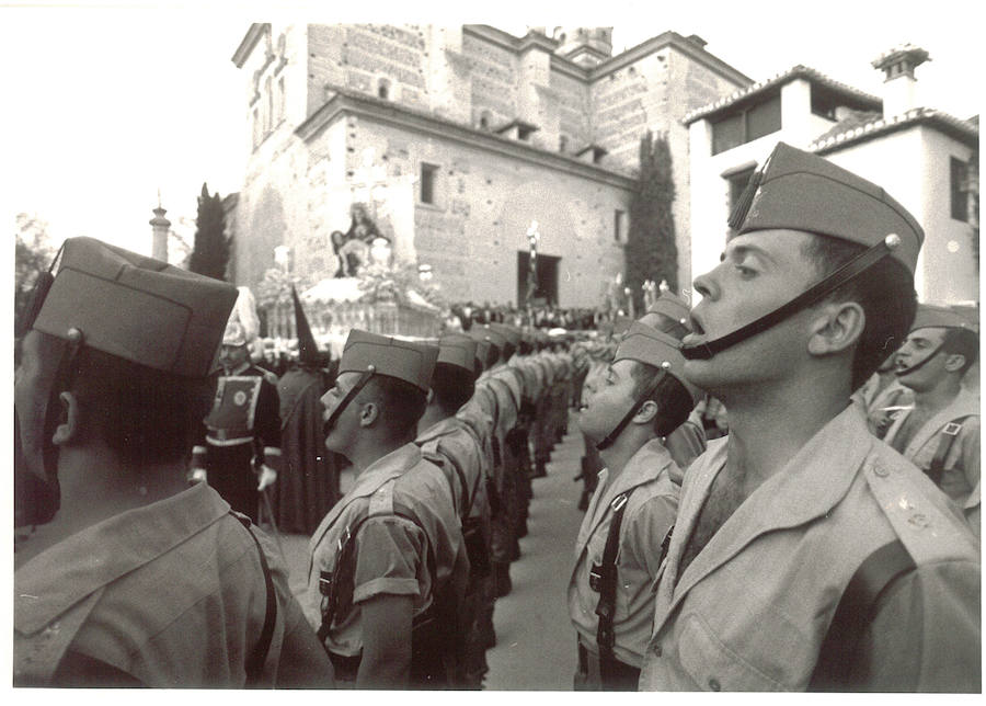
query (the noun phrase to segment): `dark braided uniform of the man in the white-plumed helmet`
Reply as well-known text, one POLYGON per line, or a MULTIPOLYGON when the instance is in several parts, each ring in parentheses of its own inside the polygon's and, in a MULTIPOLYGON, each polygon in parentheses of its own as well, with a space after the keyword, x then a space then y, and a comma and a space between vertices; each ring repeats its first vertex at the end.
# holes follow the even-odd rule
POLYGON ((276 378, 249 363, 223 375, 213 373, 213 409, 193 449, 193 466, 237 512, 257 519, 255 466, 280 457, 280 412, 276 378), (273 379, 272 379, 273 378, 273 379))

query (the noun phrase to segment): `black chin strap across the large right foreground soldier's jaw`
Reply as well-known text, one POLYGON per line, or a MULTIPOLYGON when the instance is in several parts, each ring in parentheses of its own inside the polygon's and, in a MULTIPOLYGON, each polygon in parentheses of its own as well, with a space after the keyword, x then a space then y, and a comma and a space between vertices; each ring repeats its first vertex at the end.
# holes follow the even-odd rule
POLYGON ((767 329, 780 323, 781 321, 805 308, 806 306, 810 306, 815 301, 825 298, 853 277, 862 274, 874 264, 883 260, 883 258, 891 254, 891 252, 893 252, 893 250, 898 244, 901 244, 899 237, 893 234, 887 236, 882 242, 873 246, 864 252, 861 252, 859 255, 844 264, 830 275, 815 283, 814 285, 799 294, 796 297, 778 307, 773 311, 765 314, 759 319, 736 329, 732 333, 726 333, 725 335, 718 338, 714 341, 706 341, 704 343, 698 343, 695 345, 685 345, 681 349, 681 355, 684 355, 685 358, 689 361, 708 361, 716 353, 721 353, 722 351, 725 351, 726 349, 732 348, 737 343, 741 343, 742 341, 756 335, 757 333, 766 331, 767 329))

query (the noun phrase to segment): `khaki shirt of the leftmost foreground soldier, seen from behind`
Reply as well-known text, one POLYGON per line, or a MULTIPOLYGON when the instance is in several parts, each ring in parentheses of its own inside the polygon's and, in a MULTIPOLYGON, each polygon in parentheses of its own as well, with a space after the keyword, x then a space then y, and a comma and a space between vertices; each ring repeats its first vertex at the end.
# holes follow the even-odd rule
MULTIPOLYGON (((276 548, 256 527, 252 531, 264 545, 278 602, 261 681, 274 685, 282 649, 302 631, 311 644, 318 641, 288 589, 276 548)), ((46 630, 57 631, 59 620, 89 597, 96 602, 70 651, 146 686, 244 685, 244 659, 266 615, 264 576, 256 544, 206 483, 104 520, 20 567, 14 573, 15 658, 30 657, 46 630)), ((325 656, 313 658, 312 669, 326 669, 331 685, 325 656)))

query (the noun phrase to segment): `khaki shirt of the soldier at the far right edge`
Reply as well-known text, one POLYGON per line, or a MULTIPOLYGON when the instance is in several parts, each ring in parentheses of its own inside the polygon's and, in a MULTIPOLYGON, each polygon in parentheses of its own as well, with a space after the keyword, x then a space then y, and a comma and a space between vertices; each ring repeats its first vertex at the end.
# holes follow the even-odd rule
MULTIPOLYGON (((913 408, 912 408, 913 409, 913 408)), ((883 439, 891 446, 904 425, 910 409, 901 410, 883 439)), ((976 535, 979 534, 979 400, 978 396, 962 389, 950 405, 910 437, 903 451, 904 457, 924 471, 931 468, 931 460, 938 452, 942 429, 949 422, 959 421, 962 430, 952 442, 944 459, 944 472, 939 488, 965 512, 976 535)))

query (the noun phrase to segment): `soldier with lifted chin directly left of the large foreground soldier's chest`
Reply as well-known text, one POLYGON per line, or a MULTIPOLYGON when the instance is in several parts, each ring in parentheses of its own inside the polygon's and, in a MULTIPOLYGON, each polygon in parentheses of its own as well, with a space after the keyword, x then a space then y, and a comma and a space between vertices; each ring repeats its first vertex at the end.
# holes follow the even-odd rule
POLYGON ((668 332, 634 322, 580 414, 606 467, 578 531, 569 581, 576 690, 637 691, 651 634, 651 587, 683 477, 662 441, 688 419, 698 395, 683 374, 678 326, 672 321, 668 332))

